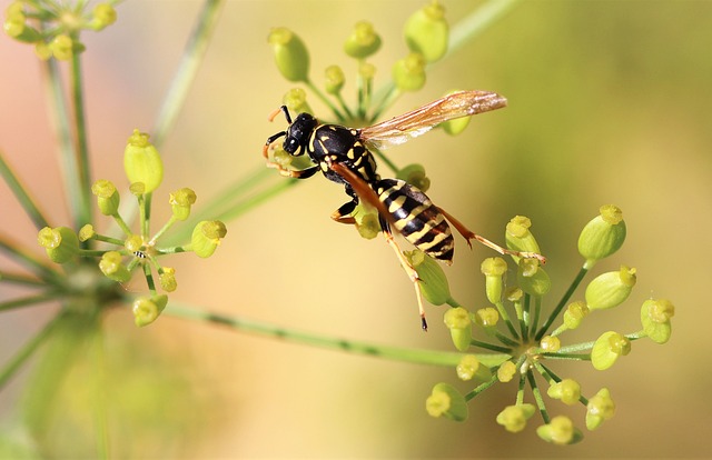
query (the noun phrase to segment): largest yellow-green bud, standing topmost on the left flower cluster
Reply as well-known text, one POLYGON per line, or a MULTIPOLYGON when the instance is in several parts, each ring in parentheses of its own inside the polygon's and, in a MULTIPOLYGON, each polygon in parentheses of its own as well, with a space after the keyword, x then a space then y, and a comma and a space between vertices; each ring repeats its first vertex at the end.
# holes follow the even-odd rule
MULTIPOLYGON (((152 192, 164 180, 164 162, 148 138, 147 133, 135 129, 123 152, 126 177, 131 187, 136 183, 142 183, 142 193, 152 192)), ((138 190, 135 189, 135 191, 138 190)))

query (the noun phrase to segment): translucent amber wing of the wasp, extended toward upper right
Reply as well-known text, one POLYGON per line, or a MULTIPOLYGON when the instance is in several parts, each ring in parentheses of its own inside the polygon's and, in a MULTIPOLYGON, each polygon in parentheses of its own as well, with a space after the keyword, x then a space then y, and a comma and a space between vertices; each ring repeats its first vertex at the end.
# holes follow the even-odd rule
POLYGON ((488 91, 459 91, 411 112, 360 130, 360 139, 377 149, 406 142, 438 126, 461 117, 501 109, 507 100, 488 91))

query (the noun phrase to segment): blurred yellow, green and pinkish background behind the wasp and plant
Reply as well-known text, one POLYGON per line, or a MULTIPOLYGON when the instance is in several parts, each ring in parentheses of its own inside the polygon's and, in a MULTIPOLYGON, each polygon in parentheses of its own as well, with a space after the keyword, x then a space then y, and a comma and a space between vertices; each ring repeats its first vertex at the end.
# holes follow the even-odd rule
MULTIPOLYGON (((8 2, 3 1, 3 9, 8 2)), ((451 24, 478 1, 444 1, 451 24)), ((297 32, 309 48, 312 78, 340 64, 355 98, 355 63, 343 42, 358 20, 382 36, 373 59, 376 88, 407 49, 405 20, 421 1, 229 1, 177 127, 161 148, 166 180, 155 220, 168 217, 159 196, 180 187, 198 194, 196 209, 264 164, 265 139, 284 129, 267 116, 293 84, 277 72, 266 38, 273 27, 297 32)), ((122 151, 134 128, 150 131, 198 1, 126 2, 117 23, 83 34, 92 169, 123 182, 122 151)), ((684 458, 710 449, 712 386, 701 294, 710 281, 712 226, 712 2, 526 1, 474 42, 438 62, 422 91, 404 94, 387 117, 452 89, 482 89, 510 106, 475 117, 459 137, 436 131, 393 149, 398 164, 421 162, 431 198, 474 231, 504 241, 504 226, 530 217, 554 281, 547 306, 566 289, 582 260, 578 231, 601 204, 623 209, 629 237, 600 263, 637 269, 631 299, 584 322, 574 340, 606 330, 640 328, 651 297, 676 306, 671 341, 633 343, 605 372, 586 363, 554 363, 586 396, 609 387, 615 418, 573 447, 535 434, 538 416, 520 434, 494 421, 514 403, 516 383, 495 386, 469 403, 469 420, 428 417, 425 398, 438 381, 462 391, 451 369, 350 356, 161 317, 137 329, 128 308, 105 320, 105 397, 117 458, 684 458)), ((40 68, 30 47, 0 38, 0 147, 56 224, 68 224, 56 140, 40 68)), ((319 116, 325 108, 309 99, 319 116)), ((384 168, 384 172, 386 169, 384 168)), ((275 173, 274 181, 284 180, 275 173)), ((314 178, 239 220, 208 260, 175 257, 179 289, 171 301, 226 314, 398 347, 452 350, 429 307, 431 331, 418 328, 411 282, 380 240, 363 240, 329 214, 345 201, 333 183, 314 178)), ((2 231, 41 254, 36 232, 4 183, 2 231)), ((494 253, 457 240, 446 268, 453 296, 469 309, 485 306, 479 274, 494 253)), ((7 258, 2 267, 12 267, 7 258)), ((594 273, 594 274, 595 274, 594 273)), ((591 278, 590 278, 591 279, 591 278)), ((2 298, 19 291, 0 287, 2 298)), ((142 282, 128 289, 141 291, 142 282)), ((6 362, 52 313, 52 307, 4 312, 0 358, 6 362)), ((564 336, 564 341, 566 336, 564 336)), ((58 457, 93 452, 91 360, 73 358, 51 431, 58 457)), ((20 407, 34 398, 24 370, 0 393, 0 427, 22 443, 20 407)), ((39 390, 38 390, 39 391, 39 390)), ((532 402, 531 396, 527 399, 532 402)), ((582 408, 551 401, 583 427, 582 408)))

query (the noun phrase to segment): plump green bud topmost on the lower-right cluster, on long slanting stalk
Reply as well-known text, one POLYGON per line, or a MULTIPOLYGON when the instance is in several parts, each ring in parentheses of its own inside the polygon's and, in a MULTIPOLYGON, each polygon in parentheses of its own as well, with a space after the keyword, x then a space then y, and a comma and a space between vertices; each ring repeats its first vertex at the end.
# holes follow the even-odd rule
POLYGON ((591 220, 578 236, 578 253, 586 259, 584 268, 617 251, 625 241, 623 211, 613 204, 602 206, 601 214, 591 220))

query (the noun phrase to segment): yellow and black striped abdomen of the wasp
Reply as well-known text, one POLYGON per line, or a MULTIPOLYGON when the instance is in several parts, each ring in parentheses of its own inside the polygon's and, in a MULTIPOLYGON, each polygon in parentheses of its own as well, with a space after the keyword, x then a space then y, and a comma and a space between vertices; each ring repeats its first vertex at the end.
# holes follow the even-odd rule
POLYGON ((451 263, 455 240, 443 213, 425 193, 398 179, 376 182, 375 191, 393 218, 393 226, 426 254, 451 263))

